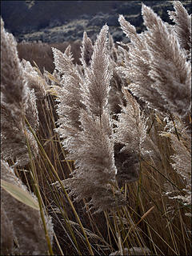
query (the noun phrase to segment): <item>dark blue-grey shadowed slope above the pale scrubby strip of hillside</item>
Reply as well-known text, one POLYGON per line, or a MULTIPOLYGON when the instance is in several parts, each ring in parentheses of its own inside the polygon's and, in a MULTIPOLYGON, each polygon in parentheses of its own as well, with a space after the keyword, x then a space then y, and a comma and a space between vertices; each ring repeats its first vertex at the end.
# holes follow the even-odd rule
POLYGON ((102 10, 113 10, 117 1, 34 1, 29 6, 26 1, 2 1, 2 18, 7 28, 16 34, 39 30, 51 23, 65 24, 82 14, 90 17, 102 10))

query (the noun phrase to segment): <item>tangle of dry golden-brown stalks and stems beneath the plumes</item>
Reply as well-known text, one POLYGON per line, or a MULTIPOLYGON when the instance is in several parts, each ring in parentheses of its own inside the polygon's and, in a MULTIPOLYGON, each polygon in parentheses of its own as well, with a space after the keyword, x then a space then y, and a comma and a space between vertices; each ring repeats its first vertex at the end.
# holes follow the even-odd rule
MULTIPOLYGON (((33 168, 38 176, 36 182, 43 204, 54 219, 54 253, 81 255, 90 254, 92 250, 95 255, 108 255, 117 250, 126 251, 125 248, 147 247, 154 255, 189 254, 190 218, 185 215, 189 210, 178 200, 170 200, 165 195, 165 182, 179 190, 183 184, 169 163, 172 154, 169 139, 158 135, 163 128, 161 118, 157 121, 151 117, 151 122, 154 123, 159 150, 164 155, 163 161, 154 164, 142 160, 138 182, 122 186, 128 203, 126 207, 116 214, 93 215, 85 205, 86 200, 73 203, 63 187, 58 190, 52 185, 62 185, 62 179, 70 177, 73 162, 65 160, 67 152, 62 149, 58 134, 54 132, 54 118, 57 117, 51 105, 54 96, 50 95, 47 100, 50 107, 50 111, 45 113, 48 114, 47 138, 45 134, 34 134, 40 156, 33 163, 33 168)), ((26 183, 34 182, 28 173, 24 174, 26 183)), ((144 249, 142 254, 147 255, 144 249)))

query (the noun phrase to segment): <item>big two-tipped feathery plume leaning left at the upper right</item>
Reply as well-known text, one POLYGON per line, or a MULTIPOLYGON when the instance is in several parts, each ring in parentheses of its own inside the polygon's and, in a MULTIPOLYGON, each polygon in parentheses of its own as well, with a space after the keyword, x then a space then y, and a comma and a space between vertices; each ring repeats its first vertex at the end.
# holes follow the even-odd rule
POLYGON ((150 7, 142 4, 147 31, 137 34, 121 15, 122 30, 130 37, 125 67, 118 68, 130 79, 131 92, 150 107, 185 116, 190 111, 191 66, 173 30, 150 7))

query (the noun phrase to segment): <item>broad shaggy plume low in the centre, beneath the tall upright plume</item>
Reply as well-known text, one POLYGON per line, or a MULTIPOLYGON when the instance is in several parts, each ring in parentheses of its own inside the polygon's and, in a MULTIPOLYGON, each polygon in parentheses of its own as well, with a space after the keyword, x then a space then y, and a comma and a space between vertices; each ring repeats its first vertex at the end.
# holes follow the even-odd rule
POLYGON ((108 114, 103 112, 102 118, 93 119, 82 110, 82 131, 68 146, 68 158, 75 160, 73 178, 63 181, 76 200, 91 197, 90 205, 98 211, 112 209, 112 202, 115 202, 110 184, 115 182, 116 168, 108 118, 108 114))

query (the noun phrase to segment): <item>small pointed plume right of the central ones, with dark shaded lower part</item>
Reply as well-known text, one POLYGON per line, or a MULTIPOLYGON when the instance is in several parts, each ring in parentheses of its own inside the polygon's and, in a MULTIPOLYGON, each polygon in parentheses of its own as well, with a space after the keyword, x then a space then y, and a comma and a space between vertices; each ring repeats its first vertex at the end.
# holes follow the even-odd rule
POLYGON ((114 120, 114 159, 118 168, 118 184, 138 179, 139 155, 142 154, 142 144, 146 138, 146 121, 138 102, 128 92, 122 90, 126 106, 122 106, 118 121, 114 120))

